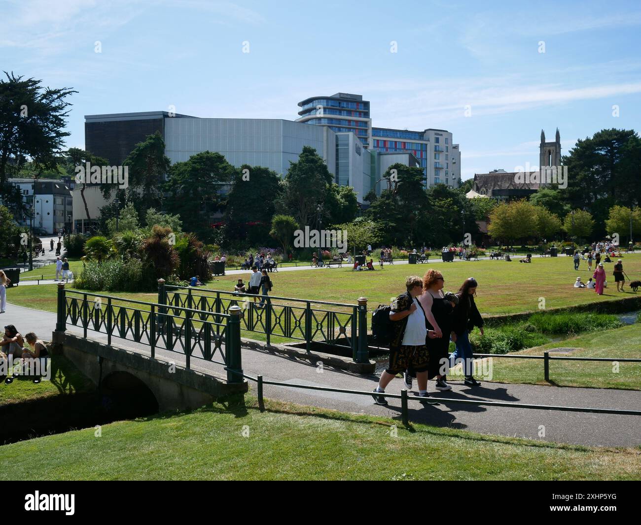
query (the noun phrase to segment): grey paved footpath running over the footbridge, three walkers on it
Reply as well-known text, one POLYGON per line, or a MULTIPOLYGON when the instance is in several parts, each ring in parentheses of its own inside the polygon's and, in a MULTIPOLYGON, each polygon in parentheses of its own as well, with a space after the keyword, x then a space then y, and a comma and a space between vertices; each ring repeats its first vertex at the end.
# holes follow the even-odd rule
MULTIPOLYGON (((11 289, 8 290, 11 300, 11 289)), ((50 339, 56 323, 56 314, 24 307, 7 305, 7 311, 0 314, 1 326, 13 324, 23 334, 35 331, 43 339, 50 339)), ((67 325, 69 332, 82 334, 81 328, 67 325)), ((92 339, 106 343, 106 334, 89 332, 92 339)), ((149 347, 142 344, 113 338, 113 344, 149 354, 149 347), (122 344, 121 344, 122 343, 122 344)), ((158 359, 182 364, 183 355, 157 350, 158 359)), ((347 371, 324 367, 322 373, 307 362, 292 357, 283 357, 267 351, 249 350, 242 353, 244 372, 247 375, 263 375, 265 380, 292 384, 318 385, 370 391, 378 376, 362 376, 347 371)), ((497 364, 500 366, 500 363, 497 364)), ((192 358, 192 367, 204 373, 225 376, 221 366, 192 358)), ((564 405, 571 407, 618 408, 639 410, 641 391, 613 389, 587 389, 553 387, 546 385, 500 384, 483 382, 481 387, 465 387, 462 382, 452 382, 453 391, 437 392, 434 382, 429 382, 431 394, 453 399, 507 401, 534 405, 564 405)), ((0 388, 7 388, 0 385, 0 388)), ((254 390, 256 385, 249 382, 254 390)), ((402 382, 395 379, 387 392, 400 393, 402 382)), ((265 397, 291 401, 301 405, 333 408, 355 414, 372 414, 399 419, 400 400, 390 399, 388 407, 374 405, 369 396, 341 394, 337 392, 309 391, 287 387, 265 385, 265 397)), ((438 406, 422 407, 417 401, 410 401, 410 421, 435 426, 471 430, 484 434, 526 437, 528 439, 565 442, 592 446, 638 446, 641 444, 641 416, 615 416, 612 414, 585 414, 579 412, 556 412, 525 408, 468 406, 462 403, 441 403, 438 406), (540 436, 544 428, 545 435, 540 436)))

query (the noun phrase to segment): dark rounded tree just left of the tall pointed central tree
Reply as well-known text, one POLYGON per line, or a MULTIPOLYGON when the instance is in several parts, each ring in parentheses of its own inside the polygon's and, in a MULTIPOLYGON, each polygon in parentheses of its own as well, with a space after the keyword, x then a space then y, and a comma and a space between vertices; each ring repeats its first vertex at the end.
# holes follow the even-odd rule
POLYGON ((263 243, 282 193, 281 177, 276 172, 263 166, 241 166, 225 207, 229 238, 243 239, 250 246, 263 243))

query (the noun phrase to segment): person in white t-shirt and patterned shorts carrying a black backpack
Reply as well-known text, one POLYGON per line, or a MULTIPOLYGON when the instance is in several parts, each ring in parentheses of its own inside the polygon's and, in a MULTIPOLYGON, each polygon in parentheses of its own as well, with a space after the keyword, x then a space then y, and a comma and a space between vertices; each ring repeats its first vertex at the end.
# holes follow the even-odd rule
POLYGON ((399 295, 392 302, 390 321, 392 323, 392 339, 390 341, 390 364, 383 371, 378 386, 372 392, 374 403, 387 405, 383 394, 385 387, 401 372, 412 367, 419 382, 419 397, 425 398, 420 402, 436 405, 429 400, 428 394, 428 365, 429 353, 426 346, 427 337, 436 337, 435 332, 428 332, 425 314, 417 297, 423 293, 423 283, 420 277, 413 275, 405 280, 406 293, 399 295))

